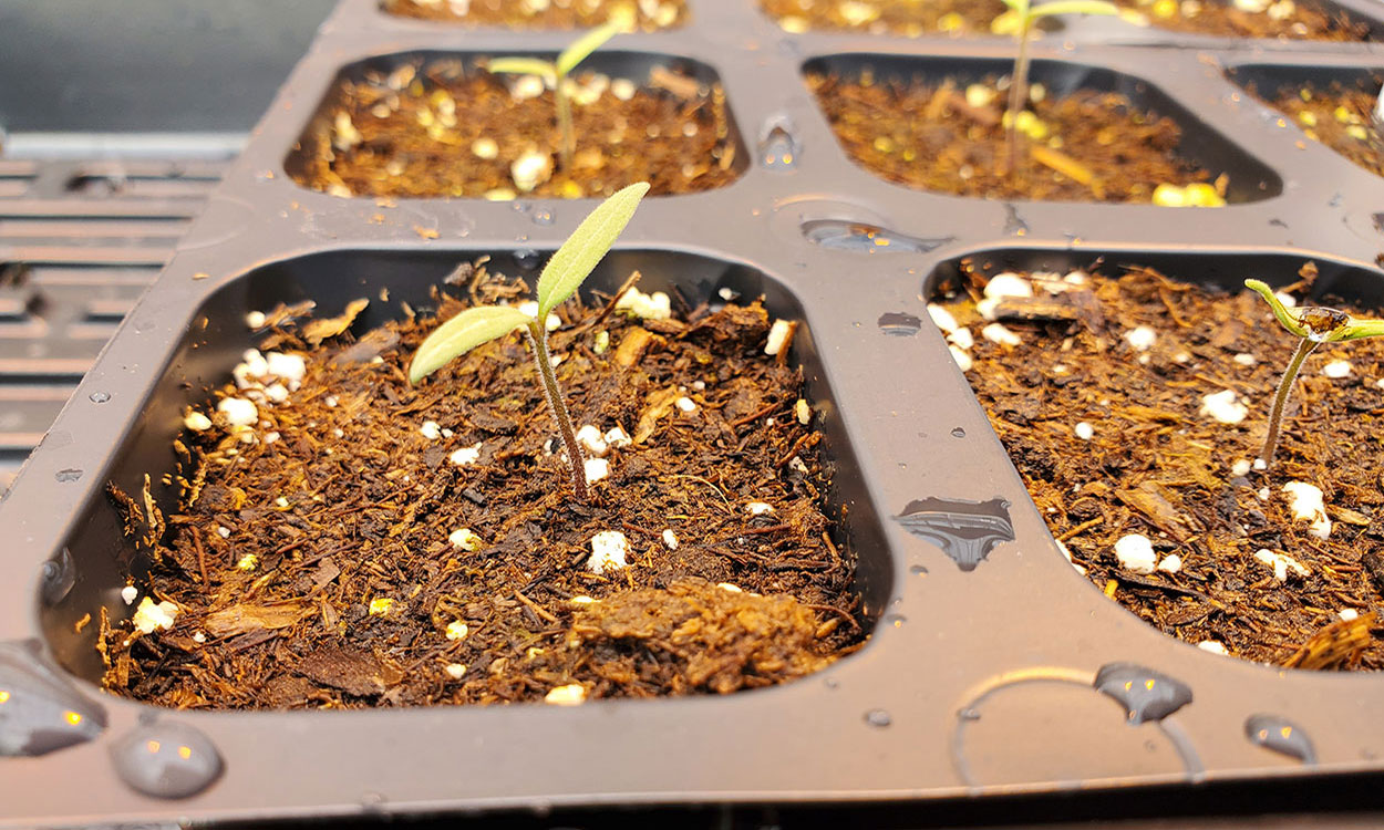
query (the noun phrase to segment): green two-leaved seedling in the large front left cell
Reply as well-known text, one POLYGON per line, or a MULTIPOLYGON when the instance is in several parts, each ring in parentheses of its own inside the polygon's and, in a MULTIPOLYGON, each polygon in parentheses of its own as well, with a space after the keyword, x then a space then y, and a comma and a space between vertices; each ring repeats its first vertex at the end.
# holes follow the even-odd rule
POLYGON ((562 398, 558 375, 552 371, 545 322, 548 313, 576 293, 585 278, 591 275, 597 263, 610 250, 646 192, 649 192, 648 183, 631 184, 602 202, 581 220, 577 230, 552 255, 538 277, 538 313, 534 317, 509 306, 466 308, 428 335, 408 365, 408 382, 418 383, 476 346, 522 328, 529 335, 534 364, 543 379, 544 397, 552 411, 554 421, 558 422, 562 444, 567 448, 567 461, 572 463, 572 487, 581 501, 587 499, 587 476, 581 448, 577 445, 577 436, 572 429, 572 415, 567 414, 567 404, 562 398))

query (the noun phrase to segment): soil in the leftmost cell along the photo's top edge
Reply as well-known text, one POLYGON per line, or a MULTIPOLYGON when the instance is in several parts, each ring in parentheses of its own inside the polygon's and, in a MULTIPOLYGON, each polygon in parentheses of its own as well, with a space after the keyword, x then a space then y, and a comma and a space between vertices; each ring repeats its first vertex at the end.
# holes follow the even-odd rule
POLYGON ((400 17, 512 29, 590 29, 628 15, 653 32, 688 19, 684 0, 382 0, 381 7, 400 17))

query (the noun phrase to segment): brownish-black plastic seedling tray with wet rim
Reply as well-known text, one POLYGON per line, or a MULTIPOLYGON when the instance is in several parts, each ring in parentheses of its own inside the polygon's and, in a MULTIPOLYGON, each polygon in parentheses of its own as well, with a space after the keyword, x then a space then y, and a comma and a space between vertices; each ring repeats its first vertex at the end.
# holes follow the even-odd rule
MULTIPOLYGON (((1341 6, 1370 17, 1362 0, 1341 6)), ((95 625, 75 622, 102 606, 129 614, 119 591, 144 570, 104 488, 138 494, 148 474, 154 498, 172 502, 159 481, 184 407, 203 404, 253 344, 248 311, 309 297, 332 314, 388 288, 390 302, 358 322, 375 325, 399 300, 425 304, 459 260, 533 267, 594 205, 304 190, 286 166, 334 80, 361 61, 552 53, 567 39, 394 19, 372 0, 346 0, 324 25, 0 508, 0 826, 657 804, 887 802, 926 815, 947 802, 956 815, 1005 795, 1114 788, 1128 800, 1100 804, 1146 816, 1217 786, 1279 780, 1329 802, 1333 773, 1384 783, 1384 678, 1219 657, 1107 600, 1062 557, 923 325, 933 286, 966 256, 1031 268, 1103 256, 1228 286, 1287 282, 1313 260, 1320 289, 1384 297, 1380 180, 1226 77, 1265 64, 1384 71, 1384 53, 1110 21, 1070 21, 1038 42, 1039 77, 1092 77, 1165 108, 1190 152, 1246 187, 1232 205, 988 202, 887 184, 846 158, 803 82, 808 65, 992 71, 1012 50, 1002 39, 787 35, 752 3, 725 1, 613 44, 714 71, 754 160, 729 187, 648 199, 594 286, 637 267, 693 302, 764 293, 772 314, 805 324, 794 358, 875 620, 857 654, 771 689, 574 708, 205 712, 102 694, 95 625), (880 232, 865 245, 859 225, 880 232), (1254 740, 1261 730, 1268 740, 1254 740), (161 748, 131 761, 149 741, 161 748)))

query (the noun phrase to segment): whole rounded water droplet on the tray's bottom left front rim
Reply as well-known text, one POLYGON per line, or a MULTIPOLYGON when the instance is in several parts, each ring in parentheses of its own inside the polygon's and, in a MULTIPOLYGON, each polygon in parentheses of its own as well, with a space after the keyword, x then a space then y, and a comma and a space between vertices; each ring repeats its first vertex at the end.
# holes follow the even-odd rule
POLYGON ((187 798, 221 776, 221 754, 199 730, 174 721, 141 723, 111 746, 115 772, 155 798, 187 798))

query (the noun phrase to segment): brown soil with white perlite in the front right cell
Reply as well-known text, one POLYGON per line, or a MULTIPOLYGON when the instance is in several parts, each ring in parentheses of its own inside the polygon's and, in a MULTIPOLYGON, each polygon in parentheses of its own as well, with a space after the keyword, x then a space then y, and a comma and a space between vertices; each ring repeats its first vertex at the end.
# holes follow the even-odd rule
MULTIPOLYGON (((1073 564, 1189 643, 1298 668, 1384 667, 1376 618, 1384 610, 1384 339, 1319 347, 1293 391, 1275 463, 1247 469, 1297 338, 1250 290, 1103 270, 1118 277, 1073 285, 1062 274, 1032 275, 1035 299, 1001 300, 1013 346, 983 333, 978 273, 941 302, 974 339, 966 376, 1073 564), (1146 350, 1129 339, 1140 326, 1156 335, 1146 350), (1326 367, 1342 360, 1349 372, 1329 376, 1326 367), (1204 396, 1225 390, 1246 407, 1237 423, 1204 409, 1204 396), (1291 481, 1324 492, 1327 538, 1295 519, 1284 491, 1291 481), (1151 541, 1160 570, 1120 563, 1116 542, 1129 534, 1151 541), (1259 551, 1291 557, 1305 574, 1290 566, 1279 578, 1259 551)), ((1315 268, 1305 274, 1290 289, 1298 297, 1315 268)))

